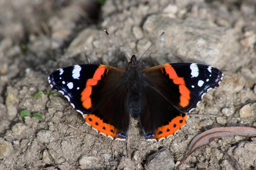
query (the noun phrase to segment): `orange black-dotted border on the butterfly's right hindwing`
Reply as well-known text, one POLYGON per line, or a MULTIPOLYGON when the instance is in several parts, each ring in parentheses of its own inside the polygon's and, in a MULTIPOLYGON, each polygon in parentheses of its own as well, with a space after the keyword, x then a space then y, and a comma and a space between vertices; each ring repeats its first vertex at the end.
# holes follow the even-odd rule
POLYGON ((186 114, 185 117, 182 117, 181 114, 180 116, 175 117, 169 124, 159 127, 155 132, 156 136, 151 139, 166 139, 167 137, 174 135, 186 124, 187 117, 188 114, 186 114))

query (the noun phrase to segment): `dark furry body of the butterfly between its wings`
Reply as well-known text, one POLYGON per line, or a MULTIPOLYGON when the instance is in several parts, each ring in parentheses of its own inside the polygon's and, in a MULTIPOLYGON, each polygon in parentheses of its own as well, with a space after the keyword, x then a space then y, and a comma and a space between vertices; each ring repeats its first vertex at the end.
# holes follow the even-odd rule
POLYGON ((142 108, 141 85, 143 84, 142 71, 136 62, 135 55, 131 58, 131 64, 126 70, 127 88, 129 89, 128 106, 132 117, 137 118, 142 108))

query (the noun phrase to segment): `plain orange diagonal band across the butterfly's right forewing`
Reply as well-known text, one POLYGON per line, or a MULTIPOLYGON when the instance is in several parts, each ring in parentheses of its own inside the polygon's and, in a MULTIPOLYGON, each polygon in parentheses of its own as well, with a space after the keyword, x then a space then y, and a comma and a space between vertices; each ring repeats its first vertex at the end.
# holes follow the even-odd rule
POLYGON ((169 75, 169 78, 173 80, 173 83, 179 85, 179 92, 180 92, 179 105, 182 107, 188 106, 189 100, 190 100, 190 90, 186 87, 184 79, 182 77, 178 77, 176 71, 170 64, 165 64, 164 69, 166 74, 169 75))

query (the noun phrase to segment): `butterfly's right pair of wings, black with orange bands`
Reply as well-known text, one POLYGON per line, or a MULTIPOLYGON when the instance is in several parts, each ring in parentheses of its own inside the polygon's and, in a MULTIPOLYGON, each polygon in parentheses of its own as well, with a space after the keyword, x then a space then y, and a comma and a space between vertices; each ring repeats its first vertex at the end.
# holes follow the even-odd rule
POLYGON ((194 63, 165 64, 142 72, 146 106, 140 120, 146 139, 155 140, 173 135, 185 125, 186 113, 198 105, 209 89, 218 87, 223 78, 217 68, 194 63))

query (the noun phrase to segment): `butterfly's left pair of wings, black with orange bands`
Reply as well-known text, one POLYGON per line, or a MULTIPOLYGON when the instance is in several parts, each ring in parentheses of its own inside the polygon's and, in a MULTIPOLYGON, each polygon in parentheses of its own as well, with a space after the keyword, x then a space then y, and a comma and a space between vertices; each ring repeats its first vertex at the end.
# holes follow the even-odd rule
POLYGON ((129 113, 124 107, 124 74, 125 70, 115 67, 84 64, 58 69, 48 81, 92 128, 113 139, 126 139, 129 113))

